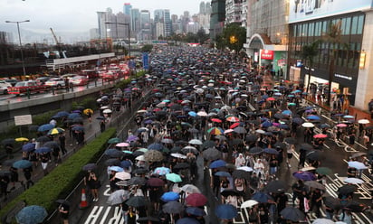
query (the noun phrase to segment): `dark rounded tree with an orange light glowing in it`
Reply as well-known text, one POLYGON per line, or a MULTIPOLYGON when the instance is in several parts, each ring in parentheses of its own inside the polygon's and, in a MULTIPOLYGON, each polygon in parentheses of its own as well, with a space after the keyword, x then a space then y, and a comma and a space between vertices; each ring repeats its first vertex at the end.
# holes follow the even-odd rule
POLYGON ((238 53, 246 42, 246 29, 238 23, 229 23, 222 33, 223 45, 238 53))

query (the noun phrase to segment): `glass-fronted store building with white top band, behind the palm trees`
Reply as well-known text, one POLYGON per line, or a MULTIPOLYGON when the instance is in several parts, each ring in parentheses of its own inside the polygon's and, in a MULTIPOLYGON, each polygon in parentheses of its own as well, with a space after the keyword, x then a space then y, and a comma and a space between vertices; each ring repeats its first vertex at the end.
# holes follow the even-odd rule
POLYGON ((291 2, 290 78, 304 85, 310 79, 317 91, 330 91, 332 99, 345 95, 350 105, 368 109, 373 98, 372 5, 372 0, 319 1, 311 5, 291 2), (326 38, 331 25, 340 29, 334 40, 326 38), (319 54, 310 68, 307 61, 300 63, 301 49, 315 41, 320 41, 319 54))

